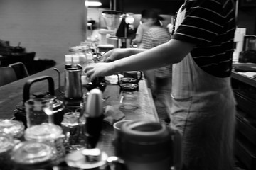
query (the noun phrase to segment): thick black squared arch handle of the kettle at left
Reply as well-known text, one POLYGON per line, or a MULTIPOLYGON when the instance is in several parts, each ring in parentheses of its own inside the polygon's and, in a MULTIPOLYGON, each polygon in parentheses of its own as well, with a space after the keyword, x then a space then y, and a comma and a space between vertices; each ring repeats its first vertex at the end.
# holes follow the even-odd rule
POLYGON ((36 77, 33 79, 28 79, 28 81, 26 81, 25 85, 23 86, 23 102, 26 102, 29 100, 31 85, 35 82, 43 81, 43 80, 48 80, 48 91, 51 95, 54 96, 53 77, 41 76, 41 77, 36 77))

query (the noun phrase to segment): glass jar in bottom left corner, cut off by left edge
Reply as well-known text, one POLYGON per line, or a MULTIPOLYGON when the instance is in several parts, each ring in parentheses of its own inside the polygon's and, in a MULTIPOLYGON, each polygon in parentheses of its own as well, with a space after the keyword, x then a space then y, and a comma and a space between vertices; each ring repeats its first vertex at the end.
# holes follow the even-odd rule
POLYGON ((11 149, 14 147, 14 140, 10 135, 0 133, 0 169, 11 169, 11 149))

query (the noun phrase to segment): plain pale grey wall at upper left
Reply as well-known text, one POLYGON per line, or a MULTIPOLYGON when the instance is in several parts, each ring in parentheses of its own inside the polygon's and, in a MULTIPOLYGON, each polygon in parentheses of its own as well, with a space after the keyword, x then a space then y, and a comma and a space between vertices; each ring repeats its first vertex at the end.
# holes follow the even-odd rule
POLYGON ((64 61, 70 46, 85 40, 82 0, 0 0, 0 39, 36 52, 36 58, 64 61))

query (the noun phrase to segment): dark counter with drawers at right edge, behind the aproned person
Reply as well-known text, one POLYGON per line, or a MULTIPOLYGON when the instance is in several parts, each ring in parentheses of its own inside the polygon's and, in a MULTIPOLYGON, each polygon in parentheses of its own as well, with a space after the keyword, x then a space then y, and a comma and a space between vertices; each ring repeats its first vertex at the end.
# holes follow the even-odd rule
POLYGON ((240 72, 232 72, 231 82, 237 102, 235 157, 245 165, 246 169, 255 169, 256 79, 240 72))

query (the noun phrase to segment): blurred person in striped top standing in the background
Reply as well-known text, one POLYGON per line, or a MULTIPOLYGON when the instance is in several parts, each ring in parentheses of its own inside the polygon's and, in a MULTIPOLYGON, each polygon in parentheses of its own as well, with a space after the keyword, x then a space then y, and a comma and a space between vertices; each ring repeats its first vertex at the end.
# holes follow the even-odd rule
MULTIPOLYGON (((156 9, 144 10, 142 19, 145 24, 149 23, 149 28, 142 35, 141 48, 151 49, 158 45, 164 44, 171 39, 167 28, 163 27, 161 21, 163 18, 156 9)), ((144 71, 147 85, 151 89, 157 106, 164 106, 166 112, 171 107, 171 64, 158 69, 150 69, 144 71)), ((169 114, 161 114, 161 120, 169 123, 169 114)))

